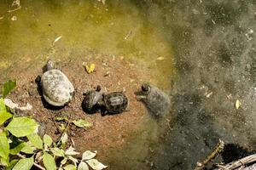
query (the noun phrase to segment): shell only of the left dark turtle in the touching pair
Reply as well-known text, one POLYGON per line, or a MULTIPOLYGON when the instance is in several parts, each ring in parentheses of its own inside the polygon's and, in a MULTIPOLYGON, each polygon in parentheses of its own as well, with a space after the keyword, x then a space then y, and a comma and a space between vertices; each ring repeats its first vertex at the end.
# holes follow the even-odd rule
POLYGON ((92 112, 94 106, 102 100, 102 93, 97 92, 96 90, 91 90, 86 92, 82 107, 86 112, 92 112))

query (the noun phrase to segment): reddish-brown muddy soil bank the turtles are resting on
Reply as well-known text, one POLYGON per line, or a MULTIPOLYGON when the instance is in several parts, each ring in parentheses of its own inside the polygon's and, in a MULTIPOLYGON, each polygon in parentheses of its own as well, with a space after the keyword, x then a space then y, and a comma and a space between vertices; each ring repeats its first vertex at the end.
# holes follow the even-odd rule
POLYGON ((70 124, 67 128, 68 136, 73 139, 77 150, 98 150, 99 156, 104 157, 108 155, 110 149, 117 149, 125 144, 127 137, 137 131, 137 124, 143 120, 146 110, 143 104, 137 102, 134 93, 140 89, 146 77, 143 71, 147 69, 138 70, 137 65, 122 56, 114 58, 99 54, 96 59, 87 59, 87 62, 96 64, 95 72, 86 73, 82 61, 78 58, 59 63, 61 71, 69 77, 75 87, 73 100, 60 110, 47 109, 42 102, 38 85, 34 81, 42 74, 40 68, 17 74, 19 75, 17 88, 8 98, 20 105, 31 104, 32 111, 26 111, 27 114, 44 123, 45 132, 55 140, 60 137, 57 128, 60 122, 55 122, 55 116, 70 115, 72 119, 82 118, 92 122, 93 127, 90 129, 78 128, 70 124), (100 113, 86 114, 81 108, 83 93, 94 89, 97 85, 101 85, 106 93, 124 91, 129 99, 130 111, 112 116, 102 116, 100 113))

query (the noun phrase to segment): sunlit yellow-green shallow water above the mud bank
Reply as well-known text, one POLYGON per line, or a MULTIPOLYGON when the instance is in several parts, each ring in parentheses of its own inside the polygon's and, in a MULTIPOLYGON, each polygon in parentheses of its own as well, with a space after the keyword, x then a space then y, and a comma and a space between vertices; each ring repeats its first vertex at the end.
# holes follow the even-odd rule
MULTIPOLYGON (((168 77, 172 71, 172 47, 166 37, 131 3, 26 1, 21 7, 4 13, 9 7, 5 3, 1 6, 4 18, 0 20, 0 69, 20 60, 61 59, 71 51, 73 57, 78 57, 83 55, 83 48, 90 48, 103 54, 124 55, 126 59, 142 59, 159 71, 158 76, 168 77), (11 20, 14 16, 17 20, 11 20), (60 36, 54 54, 51 47, 60 36)), ((161 82, 166 84, 167 80, 162 77, 161 82)))

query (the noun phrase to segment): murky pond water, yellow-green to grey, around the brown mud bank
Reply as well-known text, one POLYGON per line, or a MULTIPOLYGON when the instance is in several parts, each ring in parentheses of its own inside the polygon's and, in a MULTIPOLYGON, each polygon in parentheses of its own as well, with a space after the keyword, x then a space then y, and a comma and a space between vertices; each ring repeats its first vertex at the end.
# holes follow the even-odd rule
POLYGON ((194 169, 218 139, 256 149, 255 1, 22 1, 8 13, 11 3, 0 4, 1 82, 102 53, 147 67, 170 94, 172 111, 146 116, 109 151, 110 169, 194 169))

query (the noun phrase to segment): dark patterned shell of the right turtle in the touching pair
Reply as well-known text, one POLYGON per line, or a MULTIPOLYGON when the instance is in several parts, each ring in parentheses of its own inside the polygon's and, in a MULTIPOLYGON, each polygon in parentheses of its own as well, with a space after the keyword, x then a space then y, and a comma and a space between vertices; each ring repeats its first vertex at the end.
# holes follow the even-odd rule
POLYGON ((103 98, 106 110, 109 113, 120 113, 125 111, 128 106, 128 99, 125 94, 121 92, 113 92, 107 94, 103 98))

